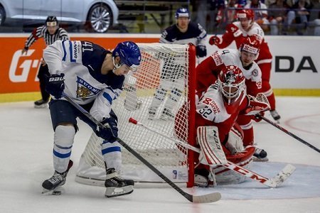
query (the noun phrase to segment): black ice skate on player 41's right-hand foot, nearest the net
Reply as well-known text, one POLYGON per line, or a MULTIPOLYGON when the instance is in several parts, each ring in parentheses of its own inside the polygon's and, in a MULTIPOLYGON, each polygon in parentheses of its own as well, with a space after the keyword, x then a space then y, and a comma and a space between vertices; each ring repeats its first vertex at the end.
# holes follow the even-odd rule
POLYGON ((105 190, 105 197, 129 195, 134 190, 134 181, 119 177, 119 173, 114 168, 109 168, 107 169, 105 187, 107 188, 105 190))

